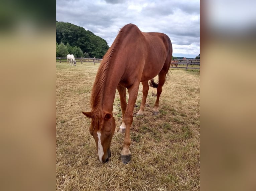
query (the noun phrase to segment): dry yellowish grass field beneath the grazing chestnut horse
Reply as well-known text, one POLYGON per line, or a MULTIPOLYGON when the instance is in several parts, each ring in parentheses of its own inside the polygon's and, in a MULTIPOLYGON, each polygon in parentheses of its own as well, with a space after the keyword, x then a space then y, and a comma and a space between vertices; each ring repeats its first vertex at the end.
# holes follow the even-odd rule
MULTIPOLYGON (((200 190, 200 72, 170 69, 157 116, 150 88, 143 116, 131 127, 131 162, 119 160, 124 134, 112 139, 110 162, 97 160, 89 133, 90 95, 99 64, 56 62, 56 190, 200 190)), ((156 80, 157 81, 157 77, 156 80)), ((128 95, 128 94, 127 94, 128 95)), ((139 88, 134 115, 142 100, 139 88)), ((118 92, 113 115, 122 122, 118 92)))

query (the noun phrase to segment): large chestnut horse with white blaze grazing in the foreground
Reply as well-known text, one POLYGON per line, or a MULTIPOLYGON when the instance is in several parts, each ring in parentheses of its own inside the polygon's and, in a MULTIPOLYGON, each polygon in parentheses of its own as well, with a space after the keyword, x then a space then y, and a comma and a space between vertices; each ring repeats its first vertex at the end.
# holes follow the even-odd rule
POLYGON ((119 132, 125 131, 124 145, 120 158, 124 164, 131 159, 130 128, 133 110, 140 82, 143 85, 143 98, 139 114, 143 114, 150 86, 157 88, 157 98, 153 114, 158 113, 159 96, 168 77, 171 64, 172 44, 163 33, 141 32, 134 24, 125 25, 118 33, 98 69, 91 93, 91 111, 84 112, 91 118, 90 133, 96 142, 98 159, 108 162, 111 156, 110 145, 116 128, 113 117, 113 102, 116 89, 120 95, 123 115, 119 132), (153 78, 158 75, 158 84, 153 78), (126 102, 126 89, 129 98, 126 102))

